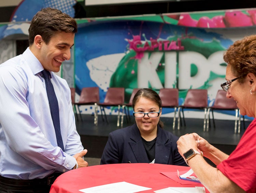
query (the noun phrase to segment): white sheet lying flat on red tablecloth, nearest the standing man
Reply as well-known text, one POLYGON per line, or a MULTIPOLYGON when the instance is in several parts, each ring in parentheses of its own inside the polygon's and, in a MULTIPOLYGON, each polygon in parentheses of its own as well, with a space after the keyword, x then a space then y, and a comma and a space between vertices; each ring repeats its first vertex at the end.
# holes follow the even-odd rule
POLYGON ((95 186, 91 188, 81 189, 79 191, 84 193, 135 193, 144 190, 150 190, 152 188, 147 188, 143 186, 138 186, 128 182, 116 182, 116 183, 109 183, 106 185, 95 186))

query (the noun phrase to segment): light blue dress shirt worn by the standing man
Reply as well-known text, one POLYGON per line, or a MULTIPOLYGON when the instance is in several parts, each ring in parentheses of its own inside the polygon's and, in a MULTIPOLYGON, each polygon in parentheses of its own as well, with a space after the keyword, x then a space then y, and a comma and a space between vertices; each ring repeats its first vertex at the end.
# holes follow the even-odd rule
POLYGON ((48 105, 43 66, 29 48, 0 65, 0 175, 14 179, 44 178, 66 172, 81 152, 67 82, 51 72, 59 104, 65 152, 57 146, 48 105))

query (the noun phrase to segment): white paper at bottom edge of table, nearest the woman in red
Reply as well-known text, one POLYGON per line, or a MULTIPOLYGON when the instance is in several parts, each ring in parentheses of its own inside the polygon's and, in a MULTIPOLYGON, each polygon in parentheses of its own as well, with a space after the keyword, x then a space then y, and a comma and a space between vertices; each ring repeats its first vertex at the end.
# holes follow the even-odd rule
POLYGON ((204 187, 169 187, 154 191, 155 193, 205 193, 204 187))

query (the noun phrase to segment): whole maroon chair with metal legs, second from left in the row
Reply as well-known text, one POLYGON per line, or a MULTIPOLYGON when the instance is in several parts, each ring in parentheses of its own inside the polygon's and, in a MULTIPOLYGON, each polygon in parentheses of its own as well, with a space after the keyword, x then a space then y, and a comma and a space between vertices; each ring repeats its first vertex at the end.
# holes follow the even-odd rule
MULTIPOLYGON (((82 105, 94 105, 94 124, 98 125, 98 103, 99 103, 99 100, 100 100, 99 87, 84 87, 84 88, 82 88, 79 101, 74 103, 74 105, 79 110, 80 118, 82 121, 83 121, 83 119, 82 119, 81 111, 80 111, 79 107, 82 105)), ((76 113, 76 111, 75 111, 75 113, 76 113)), ((76 115, 77 115, 77 113, 76 113, 76 115)))

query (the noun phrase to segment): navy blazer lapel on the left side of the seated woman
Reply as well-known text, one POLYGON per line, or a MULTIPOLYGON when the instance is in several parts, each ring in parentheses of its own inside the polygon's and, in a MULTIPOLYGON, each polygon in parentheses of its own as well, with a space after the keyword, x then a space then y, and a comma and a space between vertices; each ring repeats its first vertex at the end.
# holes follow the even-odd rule
POLYGON ((136 124, 131 128, 129 144, 138 163, 148 163, 147 153, 141 139, 139 128, 136 124))

